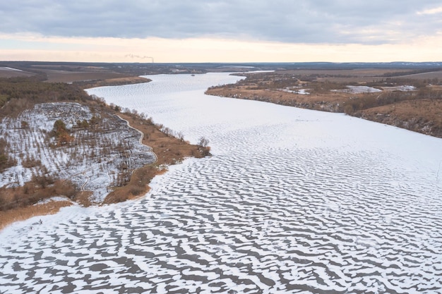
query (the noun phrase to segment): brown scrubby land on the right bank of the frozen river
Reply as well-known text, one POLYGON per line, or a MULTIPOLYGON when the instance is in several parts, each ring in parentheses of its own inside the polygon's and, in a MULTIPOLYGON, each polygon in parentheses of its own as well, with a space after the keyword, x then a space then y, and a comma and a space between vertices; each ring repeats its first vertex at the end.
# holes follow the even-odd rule
POLYGON ((245 80, 210 87, 206 94, 345 112, 442 137, 440 69, 299 70, 242 75, 245 80), (347 85, 364 85, 382 92, 345 92, 347 85), (398 87, 403 85, 413 86, 414 90, 402 91, 398 87), (297 92, 301 89, 309 94, 297 92))

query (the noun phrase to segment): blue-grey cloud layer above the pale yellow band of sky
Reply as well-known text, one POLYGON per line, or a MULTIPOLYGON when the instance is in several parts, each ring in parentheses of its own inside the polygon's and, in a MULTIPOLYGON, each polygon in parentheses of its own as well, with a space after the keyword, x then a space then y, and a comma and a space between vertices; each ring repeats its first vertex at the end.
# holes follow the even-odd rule
POLYGON ((233 37, 279 42, 388 43, 434 35, 435 0, 17 0, 0 4, 0 32, 68 37, 233 37))

